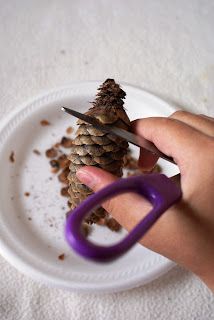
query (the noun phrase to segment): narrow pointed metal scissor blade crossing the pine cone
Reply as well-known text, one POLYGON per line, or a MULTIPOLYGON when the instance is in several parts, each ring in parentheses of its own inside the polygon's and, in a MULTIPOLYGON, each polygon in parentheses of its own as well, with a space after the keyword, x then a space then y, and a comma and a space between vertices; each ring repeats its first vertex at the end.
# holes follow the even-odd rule
POLYGON ((66 107, 62 107, 61 110, 69 113, 70 115, 72 115, 78 119, 81 119, 87 123, 90 123, 91 125, 93 125, 96 129, 98 129, 100 131, 107 132, 107 133, 113 133, 116 136, 123 138, 124 140, 132 143, 133 145, 144 148, 144 149, 150 151, 151 153, 157 155, 158 157, 175 164, 173 158, 162 153, 160 150, 158 150, 156 148, 156 146, 152 142, 144 139, 143 137, 137 136, 136 134, 129 132, 129 131, 126 131, 124 129, 117 128, 113 125, 102 124, 96 118, 87 116, 86 114, 80 113, 78 111, 75 111, 75 110, 72 110, 72 109, 69 109, 66 107))

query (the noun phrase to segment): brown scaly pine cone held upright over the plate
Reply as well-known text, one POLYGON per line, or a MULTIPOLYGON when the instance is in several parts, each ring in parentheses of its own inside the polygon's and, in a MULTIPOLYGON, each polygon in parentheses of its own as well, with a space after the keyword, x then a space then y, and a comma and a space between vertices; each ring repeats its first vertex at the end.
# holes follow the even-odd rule
MULTIPOLYGON (((87 115, 97 118, 103 124, 114 124, 130 130, 130 120, 123 108, 126 93, 113 79, 107 79, 98 89, 93 106, 87 115)), ((92 125, 78 120, 79 128, 73 141, 70 160, 69 195, 71 209, 74 209, 92 192, 76 177, 78 169, 85 165, 96 166, 121 177, 123 158, 127 154, 128 143, 113 134, 104 133, 92 125)), ((86 222, 94 223, 107 215, 99 208, 87 217, 86 222)))

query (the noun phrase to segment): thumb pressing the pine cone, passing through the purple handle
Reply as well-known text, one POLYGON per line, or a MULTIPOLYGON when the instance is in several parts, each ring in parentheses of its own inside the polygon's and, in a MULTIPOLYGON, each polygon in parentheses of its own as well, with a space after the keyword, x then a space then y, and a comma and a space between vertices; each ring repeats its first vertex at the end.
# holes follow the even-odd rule
MULTIPOLYGON (((79 169, 77 178, 95 192, 118 179, 109 172, 90 166, 79 169)), ((105 201, 102 207, 125 229, 131 230, 148 213, 151 204, 135 193, 126 193, 105 201)))

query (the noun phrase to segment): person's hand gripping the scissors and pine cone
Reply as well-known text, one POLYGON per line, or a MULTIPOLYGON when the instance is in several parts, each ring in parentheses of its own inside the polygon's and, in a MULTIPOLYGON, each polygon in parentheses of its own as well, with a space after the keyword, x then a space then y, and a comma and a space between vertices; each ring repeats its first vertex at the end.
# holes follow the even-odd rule
MULTIPOLYGON (((141 243, 192 270, 214 289, 214 119, 178 111, 170 118, 137 120, 133 128, 174 158, 183 192, 182 201, 164 213, 141 243)), ((142 167, 151 169, 156 161, 141 150, 142 167)), ((84 167, 77 176, 94 191, 117 179, 95 167, 84 167)), ((150 209, 146 200, 133 194, 118 196, 103 206, 127 230, 150 209)))

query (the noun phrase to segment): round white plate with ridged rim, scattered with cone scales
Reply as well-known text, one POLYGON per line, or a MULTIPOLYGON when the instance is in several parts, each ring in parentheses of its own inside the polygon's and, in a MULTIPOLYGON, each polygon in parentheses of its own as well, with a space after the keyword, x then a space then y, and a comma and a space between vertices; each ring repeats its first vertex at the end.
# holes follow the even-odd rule
MULTIPOLYGON (((67 246, 63 236, 66 199, 57 177, 50 173, 45 150, 65 134, 75 119, 60 106, 84 112, 93 101, 99 82, 79 82, 34 99, 18 108, 0 126, 0 253, 21 272, 49 285, 78 291, 115 292, 157 278, 173 263, 140 245, 109 264, 83 260, 67 246), (42 127, 47 119, 51 126, 42 127), (32 151, 39 149, 42 156, 32 151), (9 161, 15 152, 15 163, 9 161), (53 176, 53 180, 49 178, 53 176), (30 196, 24 196, 30 192, 30 196), (32 219, 32 220, 29 220, 32 219), (65 253, 65 259, 58 256, 65 253)), ((139 88, 123 85, 125 107, 131 119, 168 116, 174 111, 166 102, 139 88)), ((160 161, 167 175, 177 168, 160 161)), ((95 226, 92 239, 113 243, 123 237, 95 226)))

